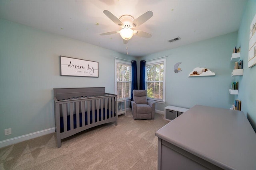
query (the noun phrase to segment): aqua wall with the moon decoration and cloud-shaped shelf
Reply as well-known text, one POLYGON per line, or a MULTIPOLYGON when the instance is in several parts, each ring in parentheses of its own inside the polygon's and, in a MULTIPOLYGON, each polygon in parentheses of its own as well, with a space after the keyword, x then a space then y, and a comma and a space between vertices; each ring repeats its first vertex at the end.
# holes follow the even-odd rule
POLYGON ((234 32, 142 57, 149 60, 168 55, 166 103, 156 104, 156 109, 163 111, 168 105, 191 108, 196 104, 228 109, 234 101, 234 96, 229 95, 233 68, 230 57, 236 42, 234 32), (174 73, 174 64, 178 62, 182 63, 182 71, 174 73), (216 76, 188 77, 196 67, 208 68, 216 76))

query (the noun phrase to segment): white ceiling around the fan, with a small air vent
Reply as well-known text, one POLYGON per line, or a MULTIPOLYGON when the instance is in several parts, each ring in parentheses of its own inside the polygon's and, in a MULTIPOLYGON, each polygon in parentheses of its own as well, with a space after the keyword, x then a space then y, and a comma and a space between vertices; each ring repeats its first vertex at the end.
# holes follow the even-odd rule
POLYGON ((244 0, 0 0, 0 17, 140 57, 237 31, 244 0), (148 10, 152 18, 136 29, 151 38, 133 36, 127 45, 119 34, 100 35, 121 28, 104 13, 138 18, 148 10), (98 24, 97 24, 98 23, 98 24), (172 43, 168 40, 179 36, 172 43))

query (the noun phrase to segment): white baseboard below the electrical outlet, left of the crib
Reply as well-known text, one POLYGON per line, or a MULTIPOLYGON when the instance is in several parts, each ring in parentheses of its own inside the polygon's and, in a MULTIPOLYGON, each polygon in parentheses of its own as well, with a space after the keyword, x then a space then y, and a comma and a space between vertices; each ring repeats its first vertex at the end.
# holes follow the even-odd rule
POLYGON ((0 141, 0 148, 55 132, 55 127, 0 141))

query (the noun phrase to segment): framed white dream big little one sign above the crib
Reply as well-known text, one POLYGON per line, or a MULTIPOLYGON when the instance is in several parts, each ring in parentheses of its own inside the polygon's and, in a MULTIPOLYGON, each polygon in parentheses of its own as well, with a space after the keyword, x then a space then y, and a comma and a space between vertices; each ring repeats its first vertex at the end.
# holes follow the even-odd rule
POLYGON ((60 56, 61 76, 99 77, 98 62, 60 56))

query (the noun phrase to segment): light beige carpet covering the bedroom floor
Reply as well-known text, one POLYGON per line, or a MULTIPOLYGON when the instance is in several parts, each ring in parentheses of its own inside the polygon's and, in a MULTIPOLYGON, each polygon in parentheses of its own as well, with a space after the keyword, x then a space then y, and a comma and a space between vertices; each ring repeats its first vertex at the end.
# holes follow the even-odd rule
POLYGON ((1 170, 156 170, 158 137, 164 115, 134 120, 132 112, 62 139, 51 133, 0 149, 1 170))

